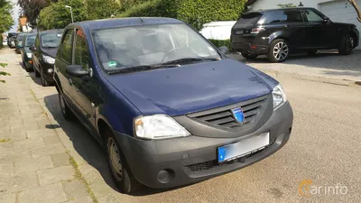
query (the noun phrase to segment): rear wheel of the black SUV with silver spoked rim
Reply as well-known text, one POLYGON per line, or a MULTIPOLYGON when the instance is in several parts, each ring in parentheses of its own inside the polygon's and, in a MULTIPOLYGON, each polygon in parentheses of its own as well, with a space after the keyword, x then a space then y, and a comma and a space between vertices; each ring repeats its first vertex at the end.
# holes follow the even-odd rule
POLYGON ((275 40, 270 45, 267 58, 271 62, 282 62, 287 60, 290 54, 290 46, 288 42, 283 39, 275 40))

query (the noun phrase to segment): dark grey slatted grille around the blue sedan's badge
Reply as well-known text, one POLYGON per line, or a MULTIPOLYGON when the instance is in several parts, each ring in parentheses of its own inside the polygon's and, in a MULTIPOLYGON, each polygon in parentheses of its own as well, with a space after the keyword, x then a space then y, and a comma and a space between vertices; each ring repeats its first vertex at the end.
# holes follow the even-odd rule
POLYGON ((266 100, 267 96, 257 97, 245 102, 241 102, 238 106, 224 106, 188 116, 198 120, 199 122, 209 125, 217 125, 220 127, 236 128, 246 126, 252 124, 255 121, 257 115, 260 115, 262 106, 264 106, 266 100), (237 122, 235 116, 232 114, 232 109, 237 107, 241 107, 245 115, 245 121, 243 124, 237 122))

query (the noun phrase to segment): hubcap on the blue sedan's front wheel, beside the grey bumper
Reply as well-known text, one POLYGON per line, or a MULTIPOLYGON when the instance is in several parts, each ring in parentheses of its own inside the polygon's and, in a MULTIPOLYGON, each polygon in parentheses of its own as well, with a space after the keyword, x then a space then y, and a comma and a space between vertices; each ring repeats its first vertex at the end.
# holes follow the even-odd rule
POLYGON ((116 177, 116 180, 120 181, 123 179, 123 167, 122 167, 122 161, 120 160, 118 147, 116 145, 116 142, 113 140, 113 138, 108 139, 107 148, 109 152, 108 156, 109 156, 112 172, 116 177))

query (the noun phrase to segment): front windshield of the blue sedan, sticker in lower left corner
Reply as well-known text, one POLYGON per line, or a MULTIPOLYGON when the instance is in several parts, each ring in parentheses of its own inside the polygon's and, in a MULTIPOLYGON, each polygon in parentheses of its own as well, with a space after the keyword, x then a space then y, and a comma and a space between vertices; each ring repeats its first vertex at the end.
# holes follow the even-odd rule
POLYGON ((93 32, 104 69, 220 59, 218 51, 186 24, 157 24, 93 32))

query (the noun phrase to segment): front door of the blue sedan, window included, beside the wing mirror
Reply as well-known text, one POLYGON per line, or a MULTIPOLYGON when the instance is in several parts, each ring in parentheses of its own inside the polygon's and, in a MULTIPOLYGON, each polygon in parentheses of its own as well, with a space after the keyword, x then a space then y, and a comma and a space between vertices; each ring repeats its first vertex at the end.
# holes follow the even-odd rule
POLYGON ((74 42, 74 65, 79 65, 86 69, 89 74, 83 77, 72 77, 73 88, 70 92, 71 97, 76 101, 76 105, 85 115, 89 125, 95 126, 95 100, 99 95, 100 89, 96 78, 92 77, 91 67, 94 67, 89 58, 87 37, 85 32, 77 29, 74 42))

